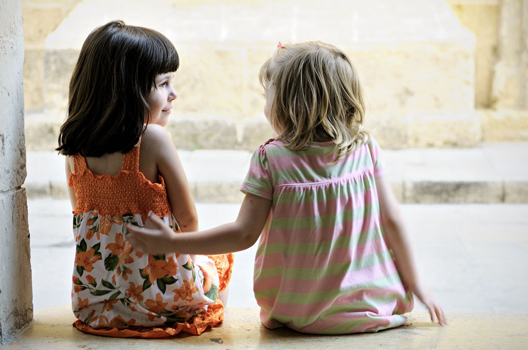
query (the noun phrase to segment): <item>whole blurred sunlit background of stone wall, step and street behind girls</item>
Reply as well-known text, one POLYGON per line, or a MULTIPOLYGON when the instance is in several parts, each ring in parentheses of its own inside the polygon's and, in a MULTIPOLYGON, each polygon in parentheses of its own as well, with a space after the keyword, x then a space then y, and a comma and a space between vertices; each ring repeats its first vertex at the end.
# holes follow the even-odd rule
MULTIPOLYGON (((251 152, 271 137, 262 63, 278 41, 326 41, 359 71, 425 283, 447 312, 528 313, 528 0, 22 0, 22 11, 35 309, 70 303, 71 208, 53 151, 69 79, 90 31, 122 19, 180 54, 167 129, 201 228, 236 218, 251 152)), ((254 248, 235 255, 231 307, 256 307, 254 248)))

